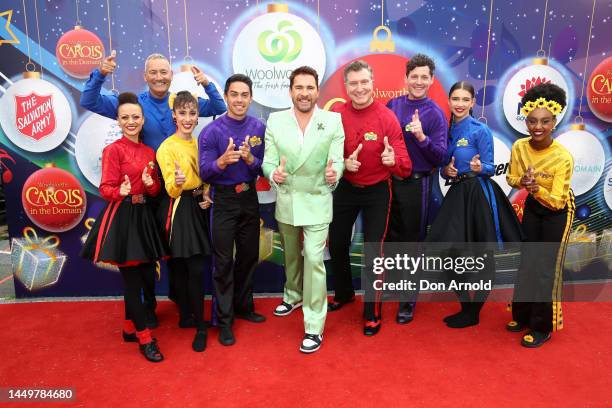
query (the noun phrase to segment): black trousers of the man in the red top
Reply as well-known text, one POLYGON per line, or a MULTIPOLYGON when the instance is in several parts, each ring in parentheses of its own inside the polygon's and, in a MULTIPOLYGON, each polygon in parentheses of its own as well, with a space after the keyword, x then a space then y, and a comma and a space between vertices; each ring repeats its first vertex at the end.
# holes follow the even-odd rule
MULTIPOLYGON (((355 296, 351 273, 350 247, 353 224, 362 213, 364 242, 382 244, 387 233, 391 204, 391 181, 357 187, 341 179, 334 191, 334 218, 329 226, 329 253, 336 302, 346 302, 355 296)), ((364 266, 364 284, 374 280, 373 265, 364 266)), ((364 302, 363 315, 366 320, 381 318, 382 302, 364 302)))

